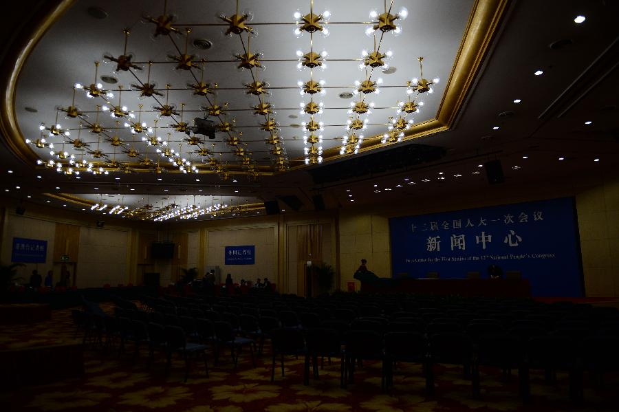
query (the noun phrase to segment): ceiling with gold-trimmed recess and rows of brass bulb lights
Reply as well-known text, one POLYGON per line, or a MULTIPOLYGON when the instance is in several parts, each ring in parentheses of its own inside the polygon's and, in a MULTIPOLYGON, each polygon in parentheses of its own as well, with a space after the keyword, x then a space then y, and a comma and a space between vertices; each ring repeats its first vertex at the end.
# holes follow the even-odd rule
MULTIPOLYGON (((43 2, 35 3, 43 7, 43 2)), ((224 35, 229 25, 217 16, 235 14, 234 1, 210 4, 213 6, 204 10, 203 2, 169 1, 166 14, 173 14, 172 25, 181 33, 154 36, 155 24, 146 17, 156 19, 163 14, 163 2, 80 1, 68 8, 61 3, 61 15, 30 51, 19 72, 12 96, 14 127, 7 127, 10 121, 6 119, 3 122, 3 143, 8 147, 3 158, 13 172, 6 174, 6 194, 85 209, 85 213, 106 213, 118 204, 127 206, 119 217, 154 219, 167 214, 177 219, 179 216, 171 210, 191 205, 204 210, 218 203, 236 205, 230 213, 214 214, 232 217, 243 208, 241 215, 263 214, 263 202, 272 199, 279 199, 280 207, 287 210, 291 209, 287 207, 290 202, 293 209, 313 210, 316 205, 312 196, 316 194, 321 194, 331 208, 357 207, 403 195, 477 191, 488 185, 481 166, 495 159, 501 160, 506 184, 616 173, 611 167, 619 142, 619 30, 613 22, 619 6, 615 2, 395 0, 391 13, 402 7, 409 13, 406 19, 395 21, 402 33, 395 36, 393 32, 376 31, 378 50, 393 52, 389 64, 395 72, 383 73, 384 67, 368 70, 371 80, 382 78, 380 94, 361 93, 351 98, 341 98, 340 94, 353 92, 355 80, 366 78, 365 70, 358 65, 362 63, 362 50, 373 49, 373 36, 367 36, 365 30, 371 25, 367 23, 372 20, 371 10, 384 12, 382 1, 356 1, 354 7, 346 1, 314 1, 315 14, 324 10, 331 14, 324 25, 329 30, 326 37, 319 32, 311 36, 303 32, 299 37, 293 33, 301 27, 295 23, 294 13, 310 12, 309 0, 289 1, 285 6, 274 0, 241 1, 239 10, 253 14, 248 24, 255 36, 250 37, 247 33, 224 35), (586 20, 575 23, 578 15, 586 20), (477 21, 479 16, 484 19, 477 21), (484 38, 479 34, 483 24, 477 23, 490 20, 497 26, 488 28, 484 38), (191 28, 188 36, 186 28, 191 28), (123 50, 124 29, 130 30, 127 52, 123 50), (479 45, 466 43, 476 37, 483 40, 479 45), (210 41, 212 47, 200 49, 203 40, 210 41), (248 41, 251 52, 261 53, 263 68, 237 69, 235 54, 246 52, 243 46, 247 47, 248 41), (309 52, 310 42, 315 52, 327 51, 327 69, 297 69, 296 50, 309 52), (191 70, 174 69, 177 63, 169 56, 184 54, 185 43, 186 54, 195 55, 194 61, 206 59, 204 67, 197 63, 191 70), (129 53, 142 70, 116 72, 115 63, 103 63, 103 55, 129 53), (475 64, 469 70, 461 69, 462 62, 468 61, 465 57, 473 55, 470 61, 475 64), (432 94, 418 94, 407 86, 409 80, 421 77, 419 56, 424 57, 423 77, 440 80, 433 85, 432 94), (94 83, 94 61, 101 62, 97 82, 111 90, 113 98, 87 98, 83 89, 77 89, 73 103, 75 83, 94 83), (150 77, 148 61, 155 62, 150 65, 150 77), (535 75, 536 71, 543 74, 535 75), (117 83, 105 83, 102 76, 112 76, 117 83), (324 96, 301 91, 297 82, 310 78, 325 80, 324 96), (268 82, 268 94, 248 93, 246 85, 255 79, 268 82), (193 96, 191 85, 198 81, 217 83, 217 90, 208 96, 193 96), (140 98, 136 86, 144 83, 156 83, 163 96, 157 100, 140 98), (109 111, 97 115, 96 105, 119 105, 119 85, 123 86, 121 105, 127 107, 127 116, 112 118, 109 111), (169 92, 165 85, 171 85, 169 92), (407 95, 407 89, 413 93, 407 95), (414 122, 403 130, 402 142, 382 143, 383 133, 389 133, 390 116, 398 116, 398 102, 406 101, 407 96, 424 105, 419 113, 405 117, 414 122), (453 96, 458 96, 457 102, 450 104, 453 96), (153 107, 166 104, 166 98, 178 115, 158 117, 160 109, 153 107), (316 131, 316 135, 322 135, 322 143, 314 144, 322 147, 322 164, 317 157, 304 154, 305 147, 312 147, 303 142, 303 135, 310 135, 310 131, 302 122, 309 122, 310 115, 300 112, 300 104, 306 105, 312 98, 323 103, 323 113, 314 115, 316 122, 324 124, 322 131, 316 131), (348 113, 350 102, 360 98, 374 103, 371 113, 358 116, 367 119, 367 129, 356 131, 365 139, 358 154, 341 155, 342 138, 349 134, 347 120, 356 116, 348 113), (252 107, 261 102, 269 102, 275 112, 254 114, 252 107), (194 118, 206 116, 204 107, 224 103, 228 103, 226 113, 209 118, 215 124, 230 123, 232 129, 217 131, 214 139, 170 127, 181 121, 181 107, 182 121, 191 127, 194 118), (66 111, 57 109, 69 105, 87 116, 65 118, 66 111), (138 105, 142 105, 141 114, 138 105), (129 118, 129 113, 135 118, 129 118), (131 133, 123 124, 136 118, 153 128, 158 120, 158 127, 151 133, 131 133), (272 131, 261 129, 260 123, 269 119, 276 127, 272 131), (91 133, 88 127, 96 122, 107 131, 91 133), (61 124, 68 130, 70 134, 64 137, 50 137, 48 130, 43 134, 47 143, 54 143, 54 151, 67 151, 69 159, 73 154, 75 162, 85 160, 85 167, 69 165, 69 159, 58 160, 50 155, 50 148, 37 148, 32 143, 27 148, 30 152, 20 151, 19 144, 24 146, 25 139, 34 142, 41 137, 41 123, 47 128, 61 124), (118 136, 118 145, 110 142, 114 136, 118 136), (279 140, 276 144, 274 136, 279 140), (157 137, 161 141, 154 146, 142 140, 154 138, 157 142, 157 137), (189 138, 199 142, 190 142, 189 138), (88 146, 75 147, 76 139, 88 146), (180 156, 162 156, 158 149, 175 149, 180 156), (204 149, 203 155, 196 153, 200 149, 204 149), (411 160, 407 162, 409 153, 411 160), (170 162, 171 158, 176 164, 170 162), (190 164, 182 164, 182 158, 190 164), (310 164, 305 164, 305 158, 310 164), (61 173, 56 171, 57 164, 52 168, 37 165, 38 159, 60 161, 61 173), (314 161, 316 164, 312 164, 314 161), (382 166, 359 166, 366 162, 382 166), (102 173, 87 171, 88 163, 94 171, 101 167, 102 173), (74 170, 71 175, 66 174, 69 166, 74 170), (192 166, 197 171, 192 171, 192 166), (321 173, 323 177, 318 179, 321 173), (108 202, 109 208, 87 207, 101 202, 108 202), (178 206, 171 208, 171 204, 178 206), (150 206, 148 211, 144 206, 150 206), (131 214, 131 210, 137 212, 131 214)), ((204 213, 196 217, 211 216, 204 213)))

